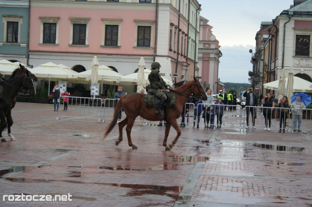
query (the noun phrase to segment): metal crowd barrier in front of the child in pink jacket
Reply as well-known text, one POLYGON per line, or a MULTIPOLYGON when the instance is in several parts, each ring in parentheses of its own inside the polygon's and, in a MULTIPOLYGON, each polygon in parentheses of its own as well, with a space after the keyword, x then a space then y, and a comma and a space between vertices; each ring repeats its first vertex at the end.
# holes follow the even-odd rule
POLYGON ((75 97, 75 96, 61 96, 68 97, 67 110, 64 111, 64 100, 63 104, 60 103, 58 117, 82 117, 82 118, 96 118, 98 121, 104 122, 102 118, 102 99, 100 98, 86 98, 86 97, 75 97))

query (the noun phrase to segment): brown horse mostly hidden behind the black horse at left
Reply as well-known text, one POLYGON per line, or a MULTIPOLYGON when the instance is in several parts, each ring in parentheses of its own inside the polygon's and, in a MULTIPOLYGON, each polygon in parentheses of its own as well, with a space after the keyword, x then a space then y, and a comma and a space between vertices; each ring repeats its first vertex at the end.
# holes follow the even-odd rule
MULTIPOLYGON (((27 70, 26 67, 22 66, 20 64, 20 67, 15 69, 13 72, 12 72, 12 75, 10 77, 10 79, 16 77, 16 76, 20 76, 20 75, 23 75, 23 74, 26 74, 30 77, 32 77, 32 80, 33 81, 37 81, 38 78, 32 74, 29 70, 27 70)), ((16 104, 16 97, 17 95, 12 99, 12 108, 14 108, 15 104, 16 104)), ((11 140, 15 140, 15 137, 11 134, 11 126, 13 125, 13 120, 12 120, 12 116, 11 116, 11 111, 12 111, 12 108, 8 110, 7 112, 7 115, 6 115, 6 119, 7 119, 7 127, 3 129, 3 131, 5 131, 7 129, 7 135, 10 137, 11 140)), ((2 138, 1 139, 2 141, 6 141, 5 138, 2 138)))

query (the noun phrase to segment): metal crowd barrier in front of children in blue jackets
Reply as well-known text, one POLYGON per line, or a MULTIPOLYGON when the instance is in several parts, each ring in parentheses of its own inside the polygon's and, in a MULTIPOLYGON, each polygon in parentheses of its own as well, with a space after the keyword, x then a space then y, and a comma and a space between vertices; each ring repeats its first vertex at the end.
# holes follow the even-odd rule
MULTIPOLYGON (((207 104, 198 104, 198 105, 203 105, 203 111, 201 112, 200 115, 200 120, 199 120, 199 125, 202 127, 202 125, 209 125, 210 127, 210 122, 206 123, 207 119, 202 118, 202 114, 207 112, 207 108, 205 106, 207 106, 207 104)), ((197 105, 197 106, 198 106, 197 105)), ((210 106, 214 106, 214 108, 217 106, 217 104, 211 104, 210 106)), ((244 125, 244 120, 243 120, 243 116, 242 116, 242 110, 241 110, 241 106, 240 105, 219 105, 219 106, 223 106, 224 110, 223 111, 223 116, 222 116, 222 124, 220 125, 221 127, 227 127, 227 128, 231 128, 231 129, 242 129, 242 126, 244 125), (232 110, 229 110, 232 109, 232 110)), ((209 110, 209 109, 208 109, 209 110)), ((194 112, 193 112, 194 114, 194 112)), ((207 114, 207 113, 206 113, 207 114)), ((214 127, 217 127, 217 118, 220 117, 220 114, 215 114, 214 117, 214 127)), ((220 117, 221 119, 221 117, 220 117)), ((194 118, 192 123, 193 127, 197 126, 197 122, 198 122, 198 116, 194 114, 194 118), (195 125, 194 125, 195 122, 195 125)))

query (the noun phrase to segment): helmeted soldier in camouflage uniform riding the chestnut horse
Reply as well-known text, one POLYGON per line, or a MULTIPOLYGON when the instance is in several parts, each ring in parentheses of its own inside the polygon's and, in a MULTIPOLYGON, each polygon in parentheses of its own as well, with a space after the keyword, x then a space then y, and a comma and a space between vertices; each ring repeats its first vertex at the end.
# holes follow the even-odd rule
POLYGON ((160 69, 159 62, 153 62, 151 65, 151 73, 149 74, 149 83, 150 83, 150 91, 155 94, 158 99, 160 99, 160 102, 158 104, 158 108, 156 110, 156 113, 159 113, 161 116, 163 116, 162 107, 165 103, 167 96, 164 93, 166 91, 165 85, 166 82, 163 80, 163 78, 159 75, 159 69, 160 69))

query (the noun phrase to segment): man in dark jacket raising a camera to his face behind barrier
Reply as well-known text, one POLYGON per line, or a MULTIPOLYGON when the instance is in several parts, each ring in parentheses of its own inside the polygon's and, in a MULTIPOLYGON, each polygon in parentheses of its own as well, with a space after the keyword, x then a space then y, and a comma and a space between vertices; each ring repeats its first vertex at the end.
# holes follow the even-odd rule
POLYGON ((252 128, 256 129, 255 127, 255 114, 257 107, 248 107, 248 106, 258 106, 257 104, 257 95, 253 93, 253 88, 250 86, 247 88, 245 93, 243 94, 246 97, 246 129, 249 129, 249 113, 251 113, 251 120, 252 120, 252 128))

